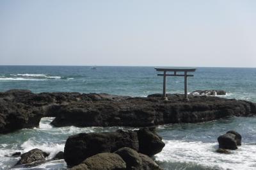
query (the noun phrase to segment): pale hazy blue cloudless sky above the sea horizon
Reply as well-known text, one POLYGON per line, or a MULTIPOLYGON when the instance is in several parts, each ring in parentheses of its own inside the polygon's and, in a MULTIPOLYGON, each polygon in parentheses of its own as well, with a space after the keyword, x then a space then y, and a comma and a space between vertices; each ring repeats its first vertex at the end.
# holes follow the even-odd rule
POLYGON ((256 1, 1 0, 0 65, 256 67, 256 1))

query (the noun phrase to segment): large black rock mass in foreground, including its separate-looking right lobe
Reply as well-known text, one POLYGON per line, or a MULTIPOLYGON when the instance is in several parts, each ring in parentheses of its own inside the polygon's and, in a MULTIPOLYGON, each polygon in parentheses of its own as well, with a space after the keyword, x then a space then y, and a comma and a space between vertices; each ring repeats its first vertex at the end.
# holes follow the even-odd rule
POLYGON ((68 166, 74 166, 97 153, 113 153, 124 147, 152 156, 163 149, 164 143, 154 131, 148 128, 137 132, 117 130, 116 132, 81 133, 68 137, 64 148, 64 159, 68 166))

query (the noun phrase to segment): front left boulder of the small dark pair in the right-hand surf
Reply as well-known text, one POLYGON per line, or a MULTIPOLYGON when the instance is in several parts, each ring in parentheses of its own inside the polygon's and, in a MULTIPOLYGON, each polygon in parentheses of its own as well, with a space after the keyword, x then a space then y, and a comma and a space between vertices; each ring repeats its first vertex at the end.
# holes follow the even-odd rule
POLYGON ((236 135, 230 133, 220 135, 220 137, 218 137, 219 148, 227 150, 236 150, 237 143, 235 138, 236 135))

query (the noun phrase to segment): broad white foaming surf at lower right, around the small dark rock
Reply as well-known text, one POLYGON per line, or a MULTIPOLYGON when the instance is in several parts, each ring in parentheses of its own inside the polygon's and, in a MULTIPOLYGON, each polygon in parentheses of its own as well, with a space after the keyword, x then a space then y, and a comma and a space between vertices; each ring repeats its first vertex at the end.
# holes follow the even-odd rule
POLYGON ((182 162, 218 169, 256 169, 256 145, 243 143, 231 154, 216 153, 218 143, 164 141, 163 151, 156 155, 160 162, 182 162))

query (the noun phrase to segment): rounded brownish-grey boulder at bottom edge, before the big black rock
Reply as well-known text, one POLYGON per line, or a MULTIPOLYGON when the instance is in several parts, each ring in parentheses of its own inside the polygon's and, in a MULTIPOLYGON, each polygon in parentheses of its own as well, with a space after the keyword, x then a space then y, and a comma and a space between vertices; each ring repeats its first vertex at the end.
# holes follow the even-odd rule
POLYGON ((71 169, 88 169, 88 170, 125 170, 124 160, 116 153, 98 153, 92 157, 86 158, 78 166, 71 169), (83 165, 81 165, 83 164, 83 165))

